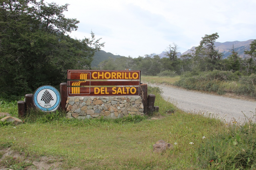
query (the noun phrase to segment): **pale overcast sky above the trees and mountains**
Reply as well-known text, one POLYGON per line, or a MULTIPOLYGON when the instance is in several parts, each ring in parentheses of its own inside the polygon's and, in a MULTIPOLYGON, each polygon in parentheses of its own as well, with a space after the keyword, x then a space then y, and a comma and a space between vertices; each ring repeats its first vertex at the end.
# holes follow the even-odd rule
POLYGON ((80 21, 72 38, 105 42, 102 50, 123 56, 160 54, 173 42, 181 53, 205 34, 218 42, 256 39, 255 0, 45 0, 70 4, 65 16, 80 21))

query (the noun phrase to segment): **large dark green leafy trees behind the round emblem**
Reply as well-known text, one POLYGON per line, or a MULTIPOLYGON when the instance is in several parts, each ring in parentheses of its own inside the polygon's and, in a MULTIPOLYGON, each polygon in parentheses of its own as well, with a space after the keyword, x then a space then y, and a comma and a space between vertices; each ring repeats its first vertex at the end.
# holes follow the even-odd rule
POLYGON ((74 18, 65 18, 68 4, 43 0, 0 2, 0 91, 13 98, 33 93, 42 85, 59 87, 67 69, 89 69, 96 50, 104 46, 92 38, 72 39, 74 18))

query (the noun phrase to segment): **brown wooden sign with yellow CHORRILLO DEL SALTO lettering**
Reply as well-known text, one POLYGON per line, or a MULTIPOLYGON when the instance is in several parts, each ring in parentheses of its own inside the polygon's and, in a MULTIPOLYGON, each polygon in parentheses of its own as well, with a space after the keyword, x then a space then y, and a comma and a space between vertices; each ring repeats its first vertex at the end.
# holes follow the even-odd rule
POLYGON ((140 71, 68 70, 68 96, 138 96, 140 71))

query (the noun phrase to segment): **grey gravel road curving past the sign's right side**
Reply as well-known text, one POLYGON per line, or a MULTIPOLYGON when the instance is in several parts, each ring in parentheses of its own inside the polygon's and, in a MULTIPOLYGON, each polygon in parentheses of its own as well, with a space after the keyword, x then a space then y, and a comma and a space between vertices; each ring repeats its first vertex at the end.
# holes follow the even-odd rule
MULTIPOLYGON (((162 96, 177 107, 188 112, 212 112, 215 116, 230 122, 232 118, 242 122, 246 115, 252 118, 255 114, 256 102, 216 96, 202 92, 194 92, 168 85, 151 85, 163 89, 162 96), (243 114, 244 113, 244 114, 243 114)), ((255 118, 254 118, 255 121, 255 118)))

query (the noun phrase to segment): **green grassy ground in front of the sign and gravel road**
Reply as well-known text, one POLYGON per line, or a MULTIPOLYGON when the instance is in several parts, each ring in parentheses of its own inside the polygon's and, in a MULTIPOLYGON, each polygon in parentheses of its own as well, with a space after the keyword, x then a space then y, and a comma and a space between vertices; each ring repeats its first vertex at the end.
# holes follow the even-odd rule
MULTIPOLYGON (((159 89, 148 89, 156 94, 160 112, 153 117, 158 120, 67 120, 61 112, 34 111, 19 126, 1 124, 0 168, 33 168, 32 162, 46 156, 48 165, 76 170, 255 169, 255 124, 231 125, 204 113, 185 113, 163 100, 159 89), (154 153, 160 139, 173 149, 154 153), (3 156, 10 150, 15 156, 3 156)), ((0 103, 1 112, 17 113, 16 102, 0 103)))

